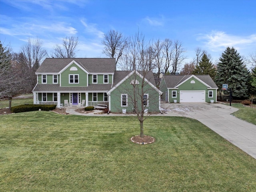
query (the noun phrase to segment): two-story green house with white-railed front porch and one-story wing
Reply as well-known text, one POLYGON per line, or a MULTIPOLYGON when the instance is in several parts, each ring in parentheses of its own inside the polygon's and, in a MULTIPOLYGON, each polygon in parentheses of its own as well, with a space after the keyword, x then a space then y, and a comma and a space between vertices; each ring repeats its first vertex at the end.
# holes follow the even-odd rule
MULTIPOLYGON (((123 108, 129 111, 132 110, 130 102, 124 106, 120 99, 124 92, 128 94, 125 84, 130 86, 126 80, 131 74, 131 71, 116 71, 115 58, 46 58, 36 71, 34 104, 56 104, 57 107, 104 105, 113 112, 123 108)), ((141 74, 138 74, 139 80, 141 74)), ((159 111, 161 92, 157 91, 152 72, 147 78, 145 90, 148 93, 145 94, 156 94, 148 97, 148 110, 159 111), (149 91, 148 87, 154 91, 149 91)))

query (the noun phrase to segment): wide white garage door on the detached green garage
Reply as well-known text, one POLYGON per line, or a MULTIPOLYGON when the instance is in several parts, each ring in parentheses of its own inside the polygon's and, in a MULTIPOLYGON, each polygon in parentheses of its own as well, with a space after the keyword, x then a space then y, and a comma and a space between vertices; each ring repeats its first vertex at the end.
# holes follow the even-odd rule
POLYGON ((205 91, 180 91, 180 102, 205 102, 205 91))

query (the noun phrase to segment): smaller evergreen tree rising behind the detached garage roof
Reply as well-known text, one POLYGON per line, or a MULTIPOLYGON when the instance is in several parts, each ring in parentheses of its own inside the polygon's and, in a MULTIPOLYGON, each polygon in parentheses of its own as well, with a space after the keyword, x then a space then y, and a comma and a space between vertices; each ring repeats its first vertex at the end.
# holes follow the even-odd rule
POLYGON ((210 62, 206 54, 202 56, 202 59, 199 61, 198 65, 194 68, 192 74, 194 75, 210 75, 214 79, 216 75, 216 69, 214 64, 210 62))

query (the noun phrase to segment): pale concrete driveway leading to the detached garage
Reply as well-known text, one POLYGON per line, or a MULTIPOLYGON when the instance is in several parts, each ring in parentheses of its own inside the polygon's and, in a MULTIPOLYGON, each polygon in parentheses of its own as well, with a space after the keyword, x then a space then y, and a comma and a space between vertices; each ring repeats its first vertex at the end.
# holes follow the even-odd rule
POLYGON ((256 126, 231 113, 237 108, 224 104, 175 103, 162 104, 164 116, 194 118, 256 159, 256 126))

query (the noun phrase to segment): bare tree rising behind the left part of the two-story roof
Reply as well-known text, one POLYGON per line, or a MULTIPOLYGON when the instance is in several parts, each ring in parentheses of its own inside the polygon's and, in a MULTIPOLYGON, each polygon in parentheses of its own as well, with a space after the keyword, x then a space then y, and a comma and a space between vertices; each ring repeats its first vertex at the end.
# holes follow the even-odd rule
POLYGON ((62 38, 62 44, 54 46, 51 56, 56 58, 75 58, 78 43, 78 37, 71 36, 62 38))

